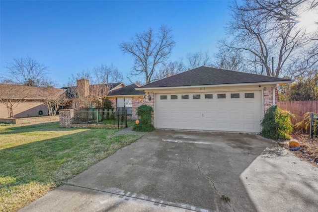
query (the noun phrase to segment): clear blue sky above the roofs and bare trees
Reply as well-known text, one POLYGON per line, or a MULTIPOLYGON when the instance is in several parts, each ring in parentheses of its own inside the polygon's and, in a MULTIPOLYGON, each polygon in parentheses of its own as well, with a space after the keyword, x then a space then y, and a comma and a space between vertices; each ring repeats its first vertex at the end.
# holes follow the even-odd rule
MULTIPOLYGON (((49 67, 63 86, 72 73, 113 64, 126 76, 133 59, 119 44, 149 27, 172 28, 170 60, 186 53, 217 52, 230 19, 228 0, 209 1, 0 1, 0 75, 14 57, 49 67)), ((185 60, 184 60, 185 62, 185 60)))

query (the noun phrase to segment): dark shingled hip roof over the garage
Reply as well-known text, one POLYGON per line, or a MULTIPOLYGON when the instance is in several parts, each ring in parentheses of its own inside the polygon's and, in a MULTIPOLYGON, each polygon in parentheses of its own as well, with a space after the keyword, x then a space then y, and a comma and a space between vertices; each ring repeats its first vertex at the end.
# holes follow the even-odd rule
POLYGON ((202 66, 141 86, 141 88, 281 81, 286 81, 288 83, 291 81, 291 79, 258 75, 239 71, 208 68, 202 66))

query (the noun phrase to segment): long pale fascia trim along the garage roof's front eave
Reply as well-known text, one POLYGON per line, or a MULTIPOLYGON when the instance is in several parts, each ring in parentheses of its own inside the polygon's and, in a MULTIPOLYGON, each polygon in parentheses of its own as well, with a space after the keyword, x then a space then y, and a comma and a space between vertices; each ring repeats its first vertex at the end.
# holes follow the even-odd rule
POLYGON ((242 86, 242 85, 268 85, 268 84, 288 84, 293 82, 289 81, 276 81, 276 82, 256 82, 256 83, 231 83, 231 84, 214 84, 214 85, 189 85, 189 86, 170 86, 170 87, 136 87, 136 90, 162 90, 162 89, 182 89, 182 88, 198 88, 198 87, 226 87, 226 86, 242 86))

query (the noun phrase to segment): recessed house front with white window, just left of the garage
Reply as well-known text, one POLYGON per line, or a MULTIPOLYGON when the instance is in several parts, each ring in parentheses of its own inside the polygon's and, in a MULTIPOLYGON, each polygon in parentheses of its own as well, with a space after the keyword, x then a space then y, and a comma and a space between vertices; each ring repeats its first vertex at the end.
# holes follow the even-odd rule
POLYGON ((137 108, 145 104, 145 92, 136 90, 140 87, 137 84, 131 84, 109 92, 107 98, 111 101, 113 108, 125 107, 127 114, 132 119, 137 119, 137 108))

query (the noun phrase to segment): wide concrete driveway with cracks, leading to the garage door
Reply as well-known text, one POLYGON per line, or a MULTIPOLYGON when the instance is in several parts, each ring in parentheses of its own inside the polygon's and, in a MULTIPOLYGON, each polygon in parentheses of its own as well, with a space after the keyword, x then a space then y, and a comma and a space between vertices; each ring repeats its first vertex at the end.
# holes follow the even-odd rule
POLYGON ((316 212, 318 169, 273 144, 156 130, 21 211, 316 212))

